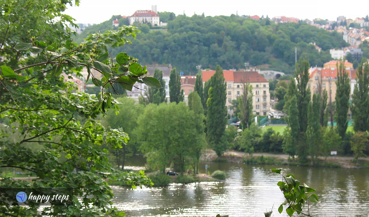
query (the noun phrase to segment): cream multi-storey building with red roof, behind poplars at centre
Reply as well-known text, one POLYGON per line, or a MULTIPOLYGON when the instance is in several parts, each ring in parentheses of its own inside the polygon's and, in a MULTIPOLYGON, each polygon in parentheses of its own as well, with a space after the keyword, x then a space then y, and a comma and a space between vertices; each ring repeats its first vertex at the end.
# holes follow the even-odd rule
MULTIPOLYGON (((205 83, 215 70, 203 70, 202 77, 205 83)), ((255 71, 233 71, 223 70, 225 82, 227 83, 227 101, 225 105, 228 114, 233 114, 232 100, 238 99, 242 95, 245 82, 252 86, 252 107, 253 113, 259 115, 268 115, 270 111, 270 93, 269 82, 262 75, 255 71)))

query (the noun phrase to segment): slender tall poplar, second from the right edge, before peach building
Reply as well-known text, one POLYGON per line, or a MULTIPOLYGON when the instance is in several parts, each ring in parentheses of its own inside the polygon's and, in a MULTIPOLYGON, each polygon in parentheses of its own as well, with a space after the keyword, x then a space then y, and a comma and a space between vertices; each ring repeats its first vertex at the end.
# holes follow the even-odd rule
POLYGON ((350 80, 348 73, 344 66, 345 59, 337 63, 337 92, 336 92, 336 121, 337 121, 337 132, 342 137, 345 138, 347 130, 347 113, 349 108, 350 99, 350 80))

